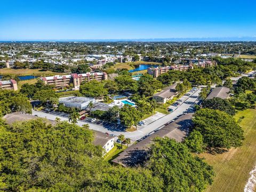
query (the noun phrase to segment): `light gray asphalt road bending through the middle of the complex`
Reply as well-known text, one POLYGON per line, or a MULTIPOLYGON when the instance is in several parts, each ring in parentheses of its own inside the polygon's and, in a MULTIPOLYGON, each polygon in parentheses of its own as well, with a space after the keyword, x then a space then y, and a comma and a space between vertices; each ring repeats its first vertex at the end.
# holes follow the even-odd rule
MULTIPOLYGON (((182 115, 183 113, 185 113, 185 111, 194 103, 194 102, 198 102, 197 97, 198 94, 201 90, 197 90, 194 93, 191 93, 190 97, 188 96, 182 96, 180 99, 183 100, 183 103, 181 103, 181 105, 179 105, 172 113, 165 115, 159 119, 157 119, 154 122, 151 122, 150 124, 146 124, 144 127, 142 127, 141 129, 137 130, 137 131, 133 131, 133 132, 122 132, 122 131, 114 131, 114 130, 109 130, 106 127, 102 126, 102 125, 97 125, 97 124, 92 124, 92 123, 85 123, 82 121, 78 121, 78 125, 82 126, 83 124, 89 124, 90 129, 92 130, 97 130, 103 133, 109 133, 109 134, 114 134, 114 135, 119 135, 119 134, 124 134, 125 138, 130 138, 132 140, 138 140, 142 137, 144 137, 145 135, 153 132, 156 129, 162 128, 164 126, 164 124, 169 123, 170 121, 172 121, 174 118, 176 118, 179 115, 182 115), (192 96, 192 97, 191 97, 192 96)), ((55 118, 57 117, 56 115, 51 115, 48 113, 45 113, 43 111, 32 111, 33 115, 37 115, 38 117, 43 117, 43 118, 47 118, 50 120, 55 120, 55 118)), ((61 117, 58 116, 61 121, 68 121, 68 118, 66 117, 61 117)))

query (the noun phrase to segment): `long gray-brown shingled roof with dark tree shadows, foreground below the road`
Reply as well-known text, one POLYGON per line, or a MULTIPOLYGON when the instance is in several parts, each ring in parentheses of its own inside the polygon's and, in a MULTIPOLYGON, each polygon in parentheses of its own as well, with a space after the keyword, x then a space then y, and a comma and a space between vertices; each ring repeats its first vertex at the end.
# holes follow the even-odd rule
POLYGON ((161 130, 151 134, 146 139, 138 142, 125 149, 118 157, 111 162, 121 164, 123 166, 137 166, 141 164, 147 154, 147 150, 156 137, 169 137, 181 142, 186 134, 188 127, 191 125, 191 118, 193 113, 182 115, 176 121, 164 126, 161 130))

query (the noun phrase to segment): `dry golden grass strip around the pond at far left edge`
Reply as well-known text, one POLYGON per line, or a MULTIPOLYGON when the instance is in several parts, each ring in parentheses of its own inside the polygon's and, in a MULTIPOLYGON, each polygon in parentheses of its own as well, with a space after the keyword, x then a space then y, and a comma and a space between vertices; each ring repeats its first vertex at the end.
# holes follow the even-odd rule
POLYGON ((62 75, 63 73, 56 73, 49 70, 43 69, 11 69, 11 68, 3 68, 0 69, 0 75, 18 75, 18 76, 26 76, 26 75, 34 75, 34 76, 53 76, 53 75, 62 75))

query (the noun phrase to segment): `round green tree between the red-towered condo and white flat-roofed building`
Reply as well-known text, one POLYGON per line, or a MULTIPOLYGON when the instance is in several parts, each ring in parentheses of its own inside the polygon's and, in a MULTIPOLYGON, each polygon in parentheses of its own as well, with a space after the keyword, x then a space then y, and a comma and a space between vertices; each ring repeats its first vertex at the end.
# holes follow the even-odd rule
POLYGON ((104 83, 96 80, 83 83, 80 86, 79 92, 85 97, 93 98, 102 98, 103 95, 108 94, 108 90, 104 87, 104 83))

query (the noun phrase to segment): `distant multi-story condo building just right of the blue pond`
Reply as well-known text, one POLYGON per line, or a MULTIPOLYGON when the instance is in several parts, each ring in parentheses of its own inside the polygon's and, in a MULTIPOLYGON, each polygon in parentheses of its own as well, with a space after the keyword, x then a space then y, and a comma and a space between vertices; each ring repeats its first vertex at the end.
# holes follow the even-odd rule
POLYGON ((150 67, 148 68, 148 74, 153 75, 153 77, 158 77, 164 73, 167 73, 169 70, 188 70, 193 69, 192 65, 175 65, 175 66, 166 66, 166 67, 150 67))

